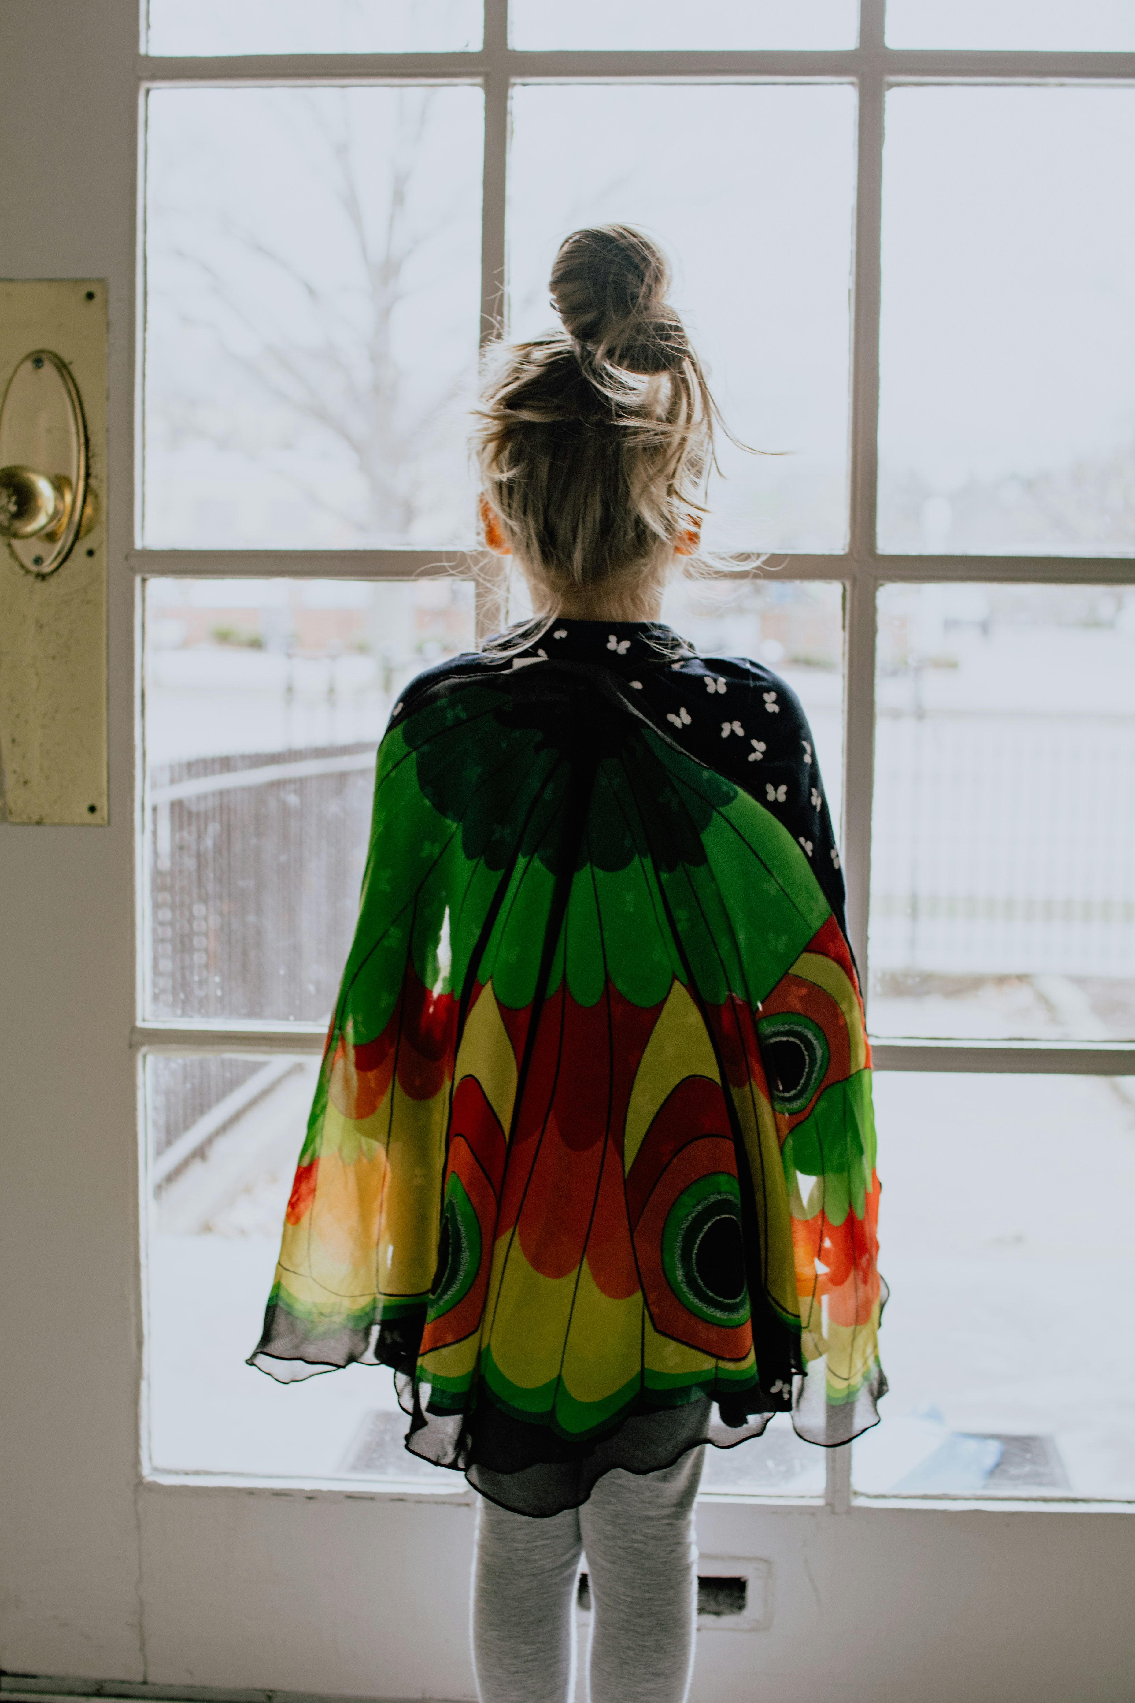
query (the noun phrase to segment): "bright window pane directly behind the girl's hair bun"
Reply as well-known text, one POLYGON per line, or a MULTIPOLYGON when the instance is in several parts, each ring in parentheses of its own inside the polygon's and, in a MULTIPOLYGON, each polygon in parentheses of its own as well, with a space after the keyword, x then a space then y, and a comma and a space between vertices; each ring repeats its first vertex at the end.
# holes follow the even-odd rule
POLYGON ((580 225, 642 225, 725 419, 706 542, 841 550, 854 94, 829 87, 521 87, 509 175, 512 330, 550 324, 580 225))

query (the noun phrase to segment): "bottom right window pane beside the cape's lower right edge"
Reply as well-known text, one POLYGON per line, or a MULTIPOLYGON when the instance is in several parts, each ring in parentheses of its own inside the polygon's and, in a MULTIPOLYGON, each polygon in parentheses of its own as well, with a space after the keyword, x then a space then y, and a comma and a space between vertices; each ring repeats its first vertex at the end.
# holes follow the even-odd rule
POLYGON ((1135 1497, 1135 1080, 875 1078, 883 1422, 856 1488, 1135 1497))

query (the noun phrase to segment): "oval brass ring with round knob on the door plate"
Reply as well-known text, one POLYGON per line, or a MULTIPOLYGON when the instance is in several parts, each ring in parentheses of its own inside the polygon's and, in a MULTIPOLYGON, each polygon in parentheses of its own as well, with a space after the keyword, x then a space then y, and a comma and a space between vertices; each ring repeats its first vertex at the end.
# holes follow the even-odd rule
POLYGON ((20 567, 53 574, 97 518, 78 387, 58 354, 32 349, 0 404, 0 538, 20 567))

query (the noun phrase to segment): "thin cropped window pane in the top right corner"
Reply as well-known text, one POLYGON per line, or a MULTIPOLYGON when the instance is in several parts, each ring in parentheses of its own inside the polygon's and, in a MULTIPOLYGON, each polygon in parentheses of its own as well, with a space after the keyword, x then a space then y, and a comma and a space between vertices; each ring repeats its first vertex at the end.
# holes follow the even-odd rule
POLYGON ((892 48, 1135 48, 1130 0, 887 0, 892 48))

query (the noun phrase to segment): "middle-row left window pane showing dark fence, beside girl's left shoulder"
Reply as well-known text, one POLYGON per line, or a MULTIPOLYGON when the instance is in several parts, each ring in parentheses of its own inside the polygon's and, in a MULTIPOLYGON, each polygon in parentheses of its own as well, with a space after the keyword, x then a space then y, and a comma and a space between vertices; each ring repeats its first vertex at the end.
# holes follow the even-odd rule
POLYGON ((405 683, 470 649, 461 581, 148 581, 151 1017, 327 1020, 374 748, 405 683))

